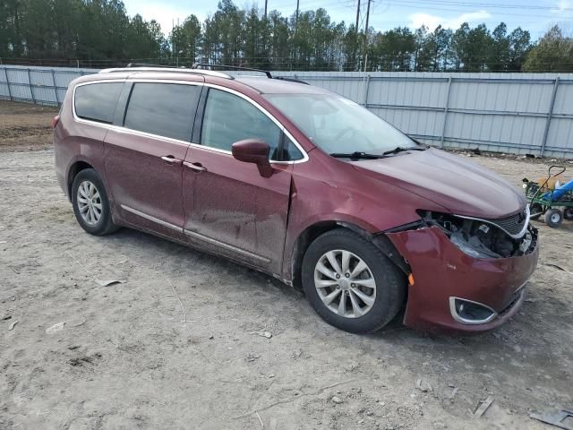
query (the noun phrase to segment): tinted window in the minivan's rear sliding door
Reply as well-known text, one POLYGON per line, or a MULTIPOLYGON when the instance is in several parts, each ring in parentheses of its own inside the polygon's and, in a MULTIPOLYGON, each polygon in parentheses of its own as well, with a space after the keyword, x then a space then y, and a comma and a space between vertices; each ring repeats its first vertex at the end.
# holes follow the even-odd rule
POLYGON ((125 113, 124 126, 191 142, 195 110, 201 87, 177 83, 135 83, 125 113))

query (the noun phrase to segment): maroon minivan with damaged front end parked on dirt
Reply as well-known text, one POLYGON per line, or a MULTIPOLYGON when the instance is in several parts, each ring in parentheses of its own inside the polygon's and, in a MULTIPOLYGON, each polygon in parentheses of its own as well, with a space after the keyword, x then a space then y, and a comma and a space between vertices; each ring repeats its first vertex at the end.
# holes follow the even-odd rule
POLYGON ((328 323, 473 332, 523 303, 539 254, 526 200, 304 82, 108 69, 70 85, 56 172, 81 227, 120 226, 303 288, 328 323))

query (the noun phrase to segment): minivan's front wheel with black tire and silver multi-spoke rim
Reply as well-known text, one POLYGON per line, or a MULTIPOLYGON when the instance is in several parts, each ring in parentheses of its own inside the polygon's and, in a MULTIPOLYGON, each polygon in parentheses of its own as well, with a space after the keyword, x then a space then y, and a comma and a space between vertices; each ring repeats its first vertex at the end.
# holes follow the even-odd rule
POLYGON ((380 330, 398 314, 406 295, 404 273, 372 242, 345 228, 312 242, 301 278, 316 313, 353 333, 380 330))

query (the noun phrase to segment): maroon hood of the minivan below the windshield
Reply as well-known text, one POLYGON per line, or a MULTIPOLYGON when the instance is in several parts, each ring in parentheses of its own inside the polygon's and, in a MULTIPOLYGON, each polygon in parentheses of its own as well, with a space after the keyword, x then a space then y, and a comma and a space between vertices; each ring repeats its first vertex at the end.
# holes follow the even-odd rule
POLYGON ((416 193, 458 215, 504 218, 526 205, 517 187, 492 171, 443 150, 413 150, 388 159, 352 164, 365 175, 416 193))

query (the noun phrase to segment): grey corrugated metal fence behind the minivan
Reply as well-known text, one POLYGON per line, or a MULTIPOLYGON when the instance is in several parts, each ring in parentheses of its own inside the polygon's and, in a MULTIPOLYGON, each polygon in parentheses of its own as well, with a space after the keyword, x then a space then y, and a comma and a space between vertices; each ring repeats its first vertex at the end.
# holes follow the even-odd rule
MULTIPOLYGON (((0 99, 56 105, 74 78, 97 72, 0 66, 0 99)), ((421 142, 573 157, 573 74, 273 73, 353 99, 421 142)))

